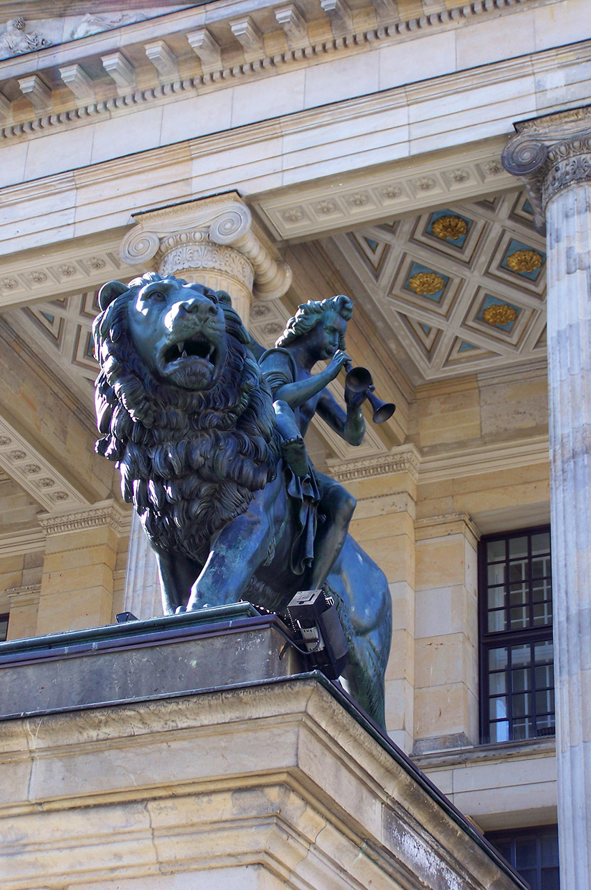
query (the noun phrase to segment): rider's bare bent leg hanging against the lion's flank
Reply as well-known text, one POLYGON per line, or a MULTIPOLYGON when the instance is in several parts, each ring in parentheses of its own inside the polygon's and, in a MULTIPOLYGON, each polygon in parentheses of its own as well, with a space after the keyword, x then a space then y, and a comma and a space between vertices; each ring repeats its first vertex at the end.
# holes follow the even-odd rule
POLYGON ((352 494, 338 482, 325 476, 324 473, 316 475, 321 490, 319 511, 326 516, 326 519, 324 522, 319 522, 314 539, 314 562, 310 578, 313 590, 322 587, 328 572, 335 564, 336 557, 343 549, 356 504, 352 494))

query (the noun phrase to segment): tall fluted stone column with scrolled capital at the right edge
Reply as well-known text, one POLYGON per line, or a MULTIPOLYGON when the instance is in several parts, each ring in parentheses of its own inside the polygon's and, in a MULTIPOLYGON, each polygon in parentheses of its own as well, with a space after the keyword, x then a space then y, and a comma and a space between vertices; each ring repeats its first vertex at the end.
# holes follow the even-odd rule
POLYGON ((547 237, 561 886, 591 888, 591 109, 516 124, 503 164, 547 237))

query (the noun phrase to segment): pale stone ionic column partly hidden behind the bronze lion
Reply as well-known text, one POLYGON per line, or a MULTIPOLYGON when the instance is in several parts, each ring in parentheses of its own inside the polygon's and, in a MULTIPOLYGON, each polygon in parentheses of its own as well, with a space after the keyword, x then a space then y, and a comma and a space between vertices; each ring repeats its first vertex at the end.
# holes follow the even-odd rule
MULTIPOLYGON (((291 269, 236 192, 134 214, 134 220, 121 246, 124 263, 227 291, 246 326, 254 298, 278 299, 291 284, 291 269)), ((135 513, 123 608, 140 619, 162 614, 156 558, 135 513)))

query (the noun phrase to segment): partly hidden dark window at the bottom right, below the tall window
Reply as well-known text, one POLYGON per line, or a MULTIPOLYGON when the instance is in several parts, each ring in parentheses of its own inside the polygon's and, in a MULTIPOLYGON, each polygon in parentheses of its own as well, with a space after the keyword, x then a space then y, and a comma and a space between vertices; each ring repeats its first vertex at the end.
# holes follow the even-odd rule
POLYGON ((558 829, 555 825, 490 831, 487 839, 530 884, 531 890, 560 890, 558 829))

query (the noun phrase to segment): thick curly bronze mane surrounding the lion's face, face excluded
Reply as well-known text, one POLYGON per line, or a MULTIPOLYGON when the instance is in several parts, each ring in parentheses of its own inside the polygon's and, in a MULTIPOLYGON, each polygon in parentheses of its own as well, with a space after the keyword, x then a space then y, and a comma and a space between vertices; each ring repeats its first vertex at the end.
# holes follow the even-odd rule
POLYGON ((139 288, 155 278, 134 279, 94 321, 101 363, 96 450, 118 465, 123 497, 152 543, 204 562, 212 535, 275 476, 271 392, 227 303, 228 360, 211 389, 182 389, 151 375, 129 336, 127 312, 139 288))

